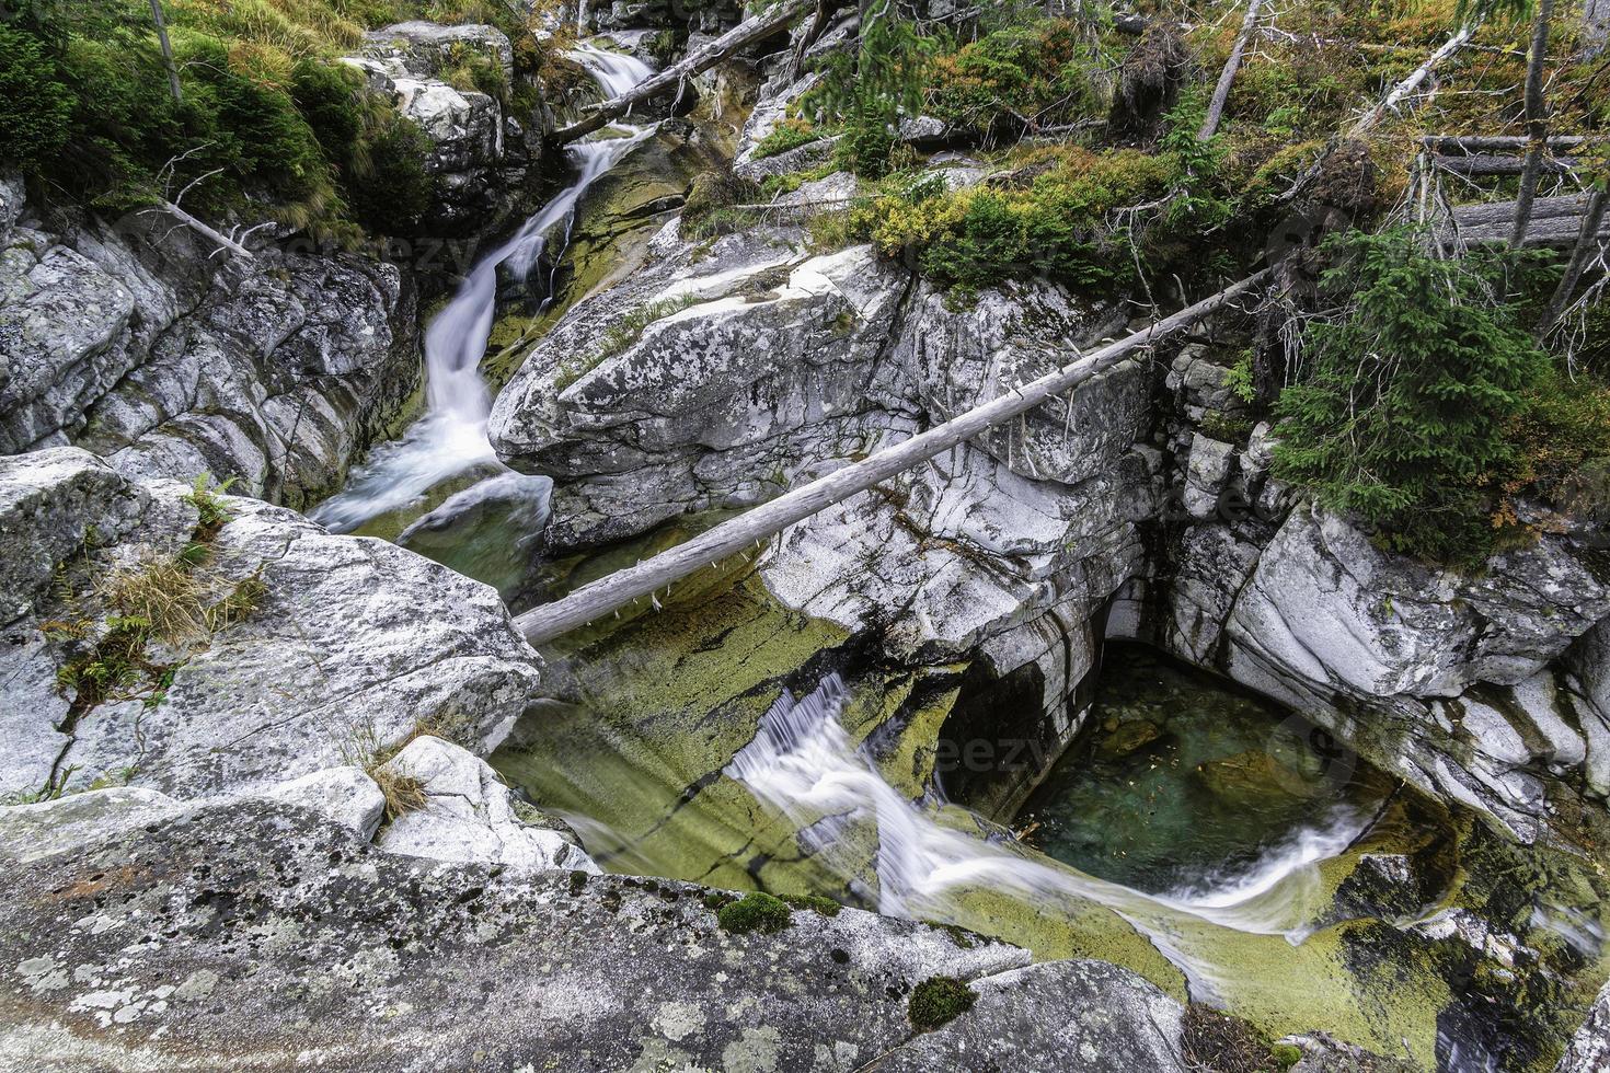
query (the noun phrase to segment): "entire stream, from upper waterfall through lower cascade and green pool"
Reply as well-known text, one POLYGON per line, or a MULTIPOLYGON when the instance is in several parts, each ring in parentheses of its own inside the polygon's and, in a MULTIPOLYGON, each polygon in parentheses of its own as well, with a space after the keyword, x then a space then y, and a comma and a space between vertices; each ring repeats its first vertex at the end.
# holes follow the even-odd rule
MULTIPOLYGON (((570 55, 605 97, 652 74, 591 43, 570 55)), ((377 447, 316 521, 417 541, 509 598, 506 574, 536 555, 552 483, 507 470, 488 442, 480 364, 499 280, 523 282, 544 256, 557 270, 588 190, 652 134, 615 124, 567 150, 570 183, 430 320, 423 417, 377 447), (480 529, 438 526, 493 502, 518 508, 480 529), (431 545, 435 528, 459 545, 431 545), (465 532, 480 547, 465 549, 465 532)), ((543 293, 544 307, 555 301, 552 278, 543 293)), ((552 563, 554 590, 676 539, 552 563)), ((753 571, 708 586, 699 600, 544 648, 544 697, 489 758, 518 795, 567 819, 602 867, 828 894, 952 927, 958 941, 982 933, 1042 959, 1101 957, 1272 1034, 1323 1025, 1423 1068, 1496 1068, 1491 1033, 1533 1031, 1525 1018, 1483 1022, 1492 994, 1510 1001, 1510 981, 1465 980, 1472 939, 1447 925, 1467 888, 1513 867, 1510 851, 1299 713, 1109 647, 1085 730, 1050 758, 1022 808, 984 816, 947 800, 932 775, 943 711, 935 721, 916 709, 903 672, 868 664, 829 624, 779 611, 753 571), (1447 1013, 1467 1009, 1468 1022, 1447 1013)), ((1560 875, 1576 893, 1517 941, 1563 951, 1567 968, 1600 962, 1579 893, 1589 886, 1560 875)))

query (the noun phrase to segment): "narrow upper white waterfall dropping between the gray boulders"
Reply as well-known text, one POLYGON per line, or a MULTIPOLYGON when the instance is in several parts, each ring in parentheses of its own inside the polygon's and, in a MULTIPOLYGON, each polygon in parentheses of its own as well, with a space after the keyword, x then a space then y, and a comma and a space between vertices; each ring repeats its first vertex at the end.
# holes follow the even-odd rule
MULTIPOLYGON (((570 55, 592 76, 604 97, 617 97, 654 74, 646 63, 586 42, 570 55)), ((520 230, 483 257, 459 283, 452 301, 425 328, 425 415, 401 439, 382 444, 353 471, 340 494, 322 502, 312 520, 335 531, 349 532, 362 523, 417 502, 431 487, 473 467, 502 470, 486 438, 493 399, 481 378, 497 312, 499 269, 525 280, 547 248, 554 232, 564 228, 559 254, 570 243, 575 209, 588 188, 613 167, 652 127, 617 124, 623 137, 597 138, 568 146, 576 179, 528 219, 520 230)), ((554 257, 555 264, 559 257, 554 257)), ((552 290, 552 286, 549 286, 552 290)))

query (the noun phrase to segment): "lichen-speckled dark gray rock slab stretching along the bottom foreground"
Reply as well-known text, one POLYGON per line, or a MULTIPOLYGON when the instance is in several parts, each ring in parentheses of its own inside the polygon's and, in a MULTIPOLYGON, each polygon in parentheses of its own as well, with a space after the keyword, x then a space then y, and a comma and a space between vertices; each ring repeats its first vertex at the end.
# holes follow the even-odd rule
POLYGON ((1175 1068, 1180 1007, 1124 970, 853 909, 731 935, 687 883, 428 862, 272 801, 130 824, 109 796, 0 812, 0 1063, 960 1070, 1021 1017, 1022 1068, 1175 1068), (98 822, 37 856, 53 809, 98 822), (916 1036, 934 975, 982 997, 916 1036))

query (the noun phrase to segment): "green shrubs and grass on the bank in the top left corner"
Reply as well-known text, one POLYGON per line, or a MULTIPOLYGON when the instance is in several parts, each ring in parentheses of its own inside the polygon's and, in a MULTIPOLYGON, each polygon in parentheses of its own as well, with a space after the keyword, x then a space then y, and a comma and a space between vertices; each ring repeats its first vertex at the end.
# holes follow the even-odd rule
MULTIPOLYGON (((184 196, 353 241, 407 233, 428 204, 423 134, 338 61, 365 29, 420 14, 499 24, 543 56, 509 10, 412 0, 167 0, 182 93, 169 90, 142 0, 24 0, 0 26, 0 164, 98 209, 184 196)), ((443 77, 507 100, 501 64, 457 45, 443 77)))

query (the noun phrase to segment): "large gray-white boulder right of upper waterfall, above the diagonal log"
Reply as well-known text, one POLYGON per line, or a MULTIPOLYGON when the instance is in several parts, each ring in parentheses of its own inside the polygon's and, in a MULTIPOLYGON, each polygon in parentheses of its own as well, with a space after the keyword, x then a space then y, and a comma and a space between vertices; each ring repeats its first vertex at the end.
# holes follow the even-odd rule
POLYGON ((900 286, 866 248, 803 257, 758 236, 678 246, 576 304, 497 397, 493 446, 555 479, 549 541, 586 547, 768 499, 863 450, 900 286), (687 307, 687 302, 692 302, 687 307), (621 309, 663 310, 607 346, 621 309))

